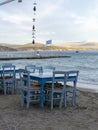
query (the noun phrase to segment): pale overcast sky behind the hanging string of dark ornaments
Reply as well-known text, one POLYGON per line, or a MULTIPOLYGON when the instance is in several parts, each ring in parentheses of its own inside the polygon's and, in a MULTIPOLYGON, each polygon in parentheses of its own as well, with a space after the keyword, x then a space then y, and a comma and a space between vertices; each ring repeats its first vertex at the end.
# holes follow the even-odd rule
MULTIPOLYGON (((17 1, 0 6, 0 43, 32 42, 35 0, 17 1)), ((37 42, 98 41, 98 0, 36 0, 36 3, 37 42)))

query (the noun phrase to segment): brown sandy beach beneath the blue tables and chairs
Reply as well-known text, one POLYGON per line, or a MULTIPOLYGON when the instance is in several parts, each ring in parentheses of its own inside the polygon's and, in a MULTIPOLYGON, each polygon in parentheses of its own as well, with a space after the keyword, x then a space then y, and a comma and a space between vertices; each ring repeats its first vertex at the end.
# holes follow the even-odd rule
POLYGON ((27 111, 20 102, 20 94, 0 93, 0 130, 98 130, 98 93, 77 90, 76 106, 62 110, 31 104, 27 111))

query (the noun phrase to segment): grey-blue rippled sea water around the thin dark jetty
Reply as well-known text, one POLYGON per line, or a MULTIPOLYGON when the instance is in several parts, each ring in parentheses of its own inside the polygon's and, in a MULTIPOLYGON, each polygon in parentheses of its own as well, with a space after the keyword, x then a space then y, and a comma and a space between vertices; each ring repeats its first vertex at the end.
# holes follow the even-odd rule
MULTIPOLYGON (((35 55, 35 52, 0 52, 0 57, 5 56, 24 56, 35 55)), ((70 57, 50 58, 50 59, 19 59, 1 60, 0 64, 11 62, 17 68, 25 68, 26 65, 56 67, 56 70, 79 70, 78 83, 87 84, 86 87, 94 87, 98 90, 98 50, 91 51, 39 51, 42 56, 46 55, 65 55, 70 57)), ((93 89, 93 88, 91 88, 93 89)))

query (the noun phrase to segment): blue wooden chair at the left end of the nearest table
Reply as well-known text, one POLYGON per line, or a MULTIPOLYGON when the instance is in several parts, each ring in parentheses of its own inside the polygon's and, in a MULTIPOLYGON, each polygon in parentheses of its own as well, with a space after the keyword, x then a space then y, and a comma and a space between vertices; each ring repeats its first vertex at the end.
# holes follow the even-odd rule
POLYGON ((21 106, 26 103, 26 108, 29 109, 30 103, 39 102, 40 86, 32 85, 30 80, 30 72, 27 70, 20 70, 21 79, 21 106))

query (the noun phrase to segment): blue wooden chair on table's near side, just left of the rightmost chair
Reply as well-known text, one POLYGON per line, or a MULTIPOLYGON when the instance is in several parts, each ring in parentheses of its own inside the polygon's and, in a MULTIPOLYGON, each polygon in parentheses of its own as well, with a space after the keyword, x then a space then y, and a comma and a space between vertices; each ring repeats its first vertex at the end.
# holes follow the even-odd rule
POLYGON ((47 91, 47 94, 45 94, 45 101, 50 101, 51 110, 56 102, 59 102, 59 108, 62 108, 67 78, 67 73, 63 71, 54 71, 51 87, 45 88, 47 91), (57 78, 59 75, 61 78, 57 78))

